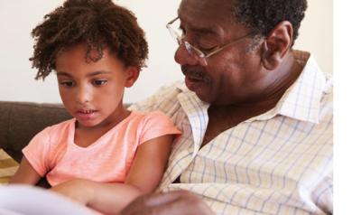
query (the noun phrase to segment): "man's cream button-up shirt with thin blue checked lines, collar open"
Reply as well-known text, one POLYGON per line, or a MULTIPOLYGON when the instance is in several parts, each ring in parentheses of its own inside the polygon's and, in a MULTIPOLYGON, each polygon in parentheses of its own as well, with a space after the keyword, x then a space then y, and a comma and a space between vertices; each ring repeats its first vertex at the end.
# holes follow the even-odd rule
POLYGON ((183 82, 134 104, 162 110, 182 131, 160 191, 198 193, 217 214, 332 213, 332 79, 310 53, 292 52, 303 70, 277 105, 203 147, 209 104, 183 82))

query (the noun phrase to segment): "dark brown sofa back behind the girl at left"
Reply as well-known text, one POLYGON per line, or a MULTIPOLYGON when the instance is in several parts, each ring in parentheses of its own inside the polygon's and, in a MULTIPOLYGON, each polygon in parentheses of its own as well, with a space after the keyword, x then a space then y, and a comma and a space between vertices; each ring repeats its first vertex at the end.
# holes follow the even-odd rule
POLYGON ((69 118, 60 104, 0 101, 0 148, 20 162, 32 136, 69 118))

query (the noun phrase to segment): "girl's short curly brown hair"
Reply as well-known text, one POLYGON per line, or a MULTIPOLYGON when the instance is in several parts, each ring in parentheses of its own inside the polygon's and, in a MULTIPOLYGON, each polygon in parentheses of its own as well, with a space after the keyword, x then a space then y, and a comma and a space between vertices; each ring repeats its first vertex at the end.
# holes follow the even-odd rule
POLYGON ((87 45, 85 61, 98 61, 104 48, 116 53, 125 66, 145 67, 148 43, 134 14, 111 0, 67 0, 44 16, 32 30, 35 39, 32 68, 35 79, 45 79, 55 70, 57 56, 78 43, 87 45), (92 57, 90 51, 97 51, 92 57))

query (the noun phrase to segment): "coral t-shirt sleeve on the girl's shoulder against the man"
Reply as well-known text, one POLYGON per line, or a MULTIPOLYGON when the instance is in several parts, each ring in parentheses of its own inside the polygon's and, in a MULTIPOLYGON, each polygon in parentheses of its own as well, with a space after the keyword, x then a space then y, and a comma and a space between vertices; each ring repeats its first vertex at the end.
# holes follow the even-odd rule
POLYGON ((161 111, 154 111, 146 114, 143 118, 142 136, 140 136, 139 142, 143 144, 159 136, 178 136, 180 134, 180 130, 174 126, 170 117, 167 117, 161 111))

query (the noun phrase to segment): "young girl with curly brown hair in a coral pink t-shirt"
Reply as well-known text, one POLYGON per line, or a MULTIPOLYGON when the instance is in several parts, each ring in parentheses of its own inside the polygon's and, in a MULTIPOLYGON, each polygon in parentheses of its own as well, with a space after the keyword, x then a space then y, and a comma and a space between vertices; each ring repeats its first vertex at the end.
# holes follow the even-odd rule
POLYGON ((32 36, 36 79, 56 71, 74 118, 33 137, 11 182, 46 176, 52 191, 104 213, 153 192, 180 131, 160 112, 123 105, 148 54, 134 14, 110 0, 68 0, 32 36))

